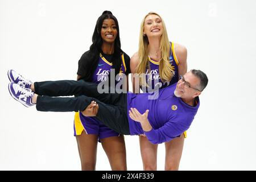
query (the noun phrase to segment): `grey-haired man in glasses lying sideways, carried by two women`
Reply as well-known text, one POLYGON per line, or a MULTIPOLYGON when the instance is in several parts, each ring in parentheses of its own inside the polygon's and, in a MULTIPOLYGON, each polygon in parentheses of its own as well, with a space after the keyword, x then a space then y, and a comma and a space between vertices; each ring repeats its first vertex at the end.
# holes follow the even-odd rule
POLYGON ((13 70, 8 72, 9 92, 25 106, 39 111, 83 111, 110 129, 125 135, 144 134, 151 143, 170 141, 188 130, 199 108, 199 95, 207 75, 192 69, 179 81, 154 93, 104 93, 92 82, 43 81, 32 83, 13 70), (73 96, 76 97, 58 97, 73 96), (93 109, 91 109, 93 107, 93 109), (93 112, 90 112, 93 110, 93 112))

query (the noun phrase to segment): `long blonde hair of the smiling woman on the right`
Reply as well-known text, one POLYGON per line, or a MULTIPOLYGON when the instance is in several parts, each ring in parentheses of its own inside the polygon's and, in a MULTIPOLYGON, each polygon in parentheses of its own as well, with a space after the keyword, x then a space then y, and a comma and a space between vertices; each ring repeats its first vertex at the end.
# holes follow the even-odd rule
MULTIPOLYGON (((136 68, 136 72, 141 75, 141 73, 146 73, 146 67, 150 68, 149 61, 148 61, 148 38, 147 35, 143 36, 144 31, 144 22, 148 15, 157 15, 159 14, 150 12, 146 16, 144 16, 141 22, 141 31, 139 34, 139 63, 136 68)), ((160 51, 161 51, 161 59, 159 60, 159 76, 163 82, 171 81, 172 77, 174 76, 174 71, 172 70, 172 66, 170 64, 169 56, 170 56, 170 42, 168 39, 166 25, 164 24, 163 19, 161 16, 159 18, 162 20, 163 23, 163 34, 160 39, 160 51)), ((146 85, 145 77, 139 78, 140 85, 146 85)))

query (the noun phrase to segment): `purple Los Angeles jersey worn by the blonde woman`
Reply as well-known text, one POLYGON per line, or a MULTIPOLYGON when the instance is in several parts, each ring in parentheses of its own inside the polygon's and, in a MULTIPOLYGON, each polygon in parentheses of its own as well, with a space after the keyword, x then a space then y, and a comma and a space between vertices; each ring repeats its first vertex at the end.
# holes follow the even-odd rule
POLYGON ((146 69, 146 80, 147 80, 147 87, 142 86, 142 91, 143 92, 154 92, 154 89, 156 86, 160 88, 164 88, 168 85, 172 85, 176 83, 179 80, 179 73, 178 73, 178 67, 179 61, 177 60, 177 57, 175 55, 174 51, 174 43, 171 43, 171 51, 170 51, 170 56, 169 56, 170 64, 172 65, 172 71, 174 71, 174 76, 172 77, 172 80, 170 83, 163 83, 162 80, 159 77, 159 62, 156 62, 152 60, 148 56, 148 61, 149 61, 149 67, 146 69))

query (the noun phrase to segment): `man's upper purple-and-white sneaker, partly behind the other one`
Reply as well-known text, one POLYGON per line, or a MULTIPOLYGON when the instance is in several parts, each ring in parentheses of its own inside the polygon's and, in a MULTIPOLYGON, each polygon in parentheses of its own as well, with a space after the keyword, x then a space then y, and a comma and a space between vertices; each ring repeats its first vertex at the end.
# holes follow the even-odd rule
POLYGON ((30 89, 30 86, 32 84, 32 81, 27 80, 19 73, 15 72, 13 69, 10 69, 7 72, 8 78, 11 82, 14 82, 15 84, 18 84, 20 86, 23 86, 24 88, 30 89))

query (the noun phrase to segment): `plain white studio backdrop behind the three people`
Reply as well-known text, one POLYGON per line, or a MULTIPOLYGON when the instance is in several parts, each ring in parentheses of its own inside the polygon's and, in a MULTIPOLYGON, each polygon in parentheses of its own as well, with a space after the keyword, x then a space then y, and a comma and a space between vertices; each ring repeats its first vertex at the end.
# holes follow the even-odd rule
MULTIPOLYGON (((139 25, 159 13, 171 41, 188 49, 188 69, 209 84, 185 139, 180 170, 255 170, 256 1, 0 0, 0 170, 80 170, 73 113, 43 113, 11 98, 7 70, 32 81, 75 80, 98 16, 119 21, 122 49, 138 48, 139 25)), ((126 136, 127 167, 142 170, 138 137, 126 136)), ((158 169, 164 169, 164 144, 158 169)), ((110 166, 98 145, 97 170, 110 166)))

